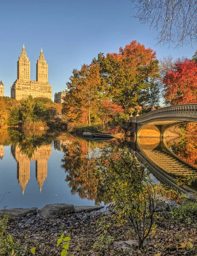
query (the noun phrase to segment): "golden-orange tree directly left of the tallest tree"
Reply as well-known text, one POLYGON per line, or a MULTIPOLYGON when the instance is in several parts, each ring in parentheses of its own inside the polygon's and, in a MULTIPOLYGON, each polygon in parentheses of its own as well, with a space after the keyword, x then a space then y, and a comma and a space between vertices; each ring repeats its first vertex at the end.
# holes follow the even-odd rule
POLYGON ((84 123, 88 121, 91 124, 91 113, 99 105, 100 85, 98 65, 83 64, 81 70, 72 70, 70 82, 67 82, 69 92, 63 104, 63 113, 67 120, 74 119, 84 123))

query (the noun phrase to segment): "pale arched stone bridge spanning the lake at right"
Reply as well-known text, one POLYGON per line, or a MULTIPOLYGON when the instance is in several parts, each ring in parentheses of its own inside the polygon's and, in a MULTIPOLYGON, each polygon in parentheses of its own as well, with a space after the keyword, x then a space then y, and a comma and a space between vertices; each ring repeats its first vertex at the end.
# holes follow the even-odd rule
POLYGON ((174 105, 159 108, 142 116, 131 116, 135 137, 166 137, 174 125, 197 122, 197 104, 174 105))

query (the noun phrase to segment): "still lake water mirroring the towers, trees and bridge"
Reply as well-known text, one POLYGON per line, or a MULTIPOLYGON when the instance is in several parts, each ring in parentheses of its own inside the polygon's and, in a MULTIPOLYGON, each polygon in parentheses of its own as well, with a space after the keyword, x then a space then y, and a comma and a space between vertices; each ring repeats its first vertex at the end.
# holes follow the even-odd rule
MULTIPOLYGON (((120 140, 84 140, 70 134, 26 137, 0 130, 1 198, 5 192, 10 192, 3 198, 0 208, 41 208, 55 203, 108 204, 110 196, 99 186, 101 177, 96 163, 104 148, 112 153, 129 150, 145 166, 145 161, 149 160, 148 170, 164 183, 168 183, 170 177, 185 177, 197 170, 196 149, 189 151, 187 145, 184 151, 183 142, 178 138, 167 141, 141 138, 123 143, 120 140), (163 166, 162 159, 167 159, 169 168, 166 163, 163 166), (153 171, 155 166, 157 170, 153 171), (167 180, 163 181, 162 173, 157 175, 158 168, 167 173, 163 175, 167 180)), ((194 184, 192 189, 195 187, 194 184)))

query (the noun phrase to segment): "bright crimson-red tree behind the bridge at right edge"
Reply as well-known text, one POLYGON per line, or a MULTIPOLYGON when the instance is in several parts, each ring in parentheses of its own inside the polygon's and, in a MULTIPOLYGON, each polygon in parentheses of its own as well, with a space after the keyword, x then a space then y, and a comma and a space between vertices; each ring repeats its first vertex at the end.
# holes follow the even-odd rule
POLYGON ((162 81, 166 105, 197 103, 197 64, 194 61, 178 59, 162 81))

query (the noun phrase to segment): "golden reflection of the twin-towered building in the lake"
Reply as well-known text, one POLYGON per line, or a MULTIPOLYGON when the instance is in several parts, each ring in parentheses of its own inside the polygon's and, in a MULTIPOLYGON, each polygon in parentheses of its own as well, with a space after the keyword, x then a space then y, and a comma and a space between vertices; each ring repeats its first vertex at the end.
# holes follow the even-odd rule
POLYGON ((26 184, 30 179, 30 161, 36 161, 36 180, 38 181, 40 190, 42 190, 44 180, 47 177, 47 160, 51 156, 51 145, 40 146, 40 148, 34 151, 31 158, 23 154, 18 145, 11 146, 11 152, 17 161, 17 179, 23 194, 26 184))

